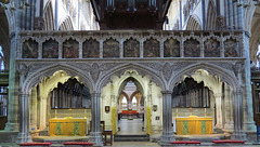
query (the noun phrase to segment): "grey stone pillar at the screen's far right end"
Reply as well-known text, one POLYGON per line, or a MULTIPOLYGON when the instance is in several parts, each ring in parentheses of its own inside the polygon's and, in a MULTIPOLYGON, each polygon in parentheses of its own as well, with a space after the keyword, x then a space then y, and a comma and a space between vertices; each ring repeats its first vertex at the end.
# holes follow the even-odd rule
POLYGON ((246 134, 243 129, 243 89, 238 88, 233 94, 233 119, 234 132, 232 139, 246 141, 246 134))

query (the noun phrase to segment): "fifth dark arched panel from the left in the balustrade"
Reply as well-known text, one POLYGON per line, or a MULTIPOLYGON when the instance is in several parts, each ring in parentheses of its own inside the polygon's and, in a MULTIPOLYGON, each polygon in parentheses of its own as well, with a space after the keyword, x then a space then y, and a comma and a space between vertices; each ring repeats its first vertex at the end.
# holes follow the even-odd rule
POLYGON ((103 57, 119 57, 119 42, 108 39, 103 43, 103 57))

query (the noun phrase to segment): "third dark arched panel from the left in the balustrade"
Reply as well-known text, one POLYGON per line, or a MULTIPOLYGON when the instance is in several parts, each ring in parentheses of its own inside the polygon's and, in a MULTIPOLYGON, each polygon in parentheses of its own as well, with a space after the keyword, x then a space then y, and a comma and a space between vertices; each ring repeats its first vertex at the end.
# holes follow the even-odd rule
POLYGON ((76 40, 69 39, 63 43, 63 57, 64 58, 78 58, 79 57, 79 43, 76 40))

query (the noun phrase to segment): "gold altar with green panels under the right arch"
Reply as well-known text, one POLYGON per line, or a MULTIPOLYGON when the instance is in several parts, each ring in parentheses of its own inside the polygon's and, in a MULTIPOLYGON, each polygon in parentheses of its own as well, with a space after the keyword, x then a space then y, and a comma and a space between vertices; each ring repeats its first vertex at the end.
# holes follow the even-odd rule
POLYGON ((176 118, 177 135, 200 135, 212 134, 212 118, 190 116, 187 118, 176 118))

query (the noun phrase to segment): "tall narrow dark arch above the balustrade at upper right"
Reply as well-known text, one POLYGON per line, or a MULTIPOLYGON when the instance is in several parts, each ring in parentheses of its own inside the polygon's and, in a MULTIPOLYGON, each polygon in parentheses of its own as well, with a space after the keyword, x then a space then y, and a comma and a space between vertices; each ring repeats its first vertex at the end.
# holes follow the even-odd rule
POLYGON ((213 1, 210 0, 208 3, 208 13, 207 13, 207 23, 206 23, 207 30, 216 29, 216 19, 217 19, 217 10, 213 1))

